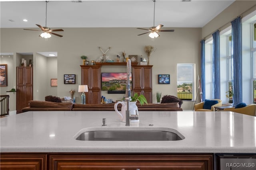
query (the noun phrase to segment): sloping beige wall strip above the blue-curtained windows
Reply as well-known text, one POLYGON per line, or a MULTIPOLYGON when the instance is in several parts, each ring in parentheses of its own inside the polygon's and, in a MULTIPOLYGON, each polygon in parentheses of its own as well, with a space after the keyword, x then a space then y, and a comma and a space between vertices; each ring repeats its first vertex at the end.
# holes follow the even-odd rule
POLYGON ((213 20, 209 21, 202 27, 202 39, 212 36, 212 33, 217 29, 223 30, 231 25, 231 21, 236 17, 244 17, 256 10, 255 0, 236 0, 213 20))

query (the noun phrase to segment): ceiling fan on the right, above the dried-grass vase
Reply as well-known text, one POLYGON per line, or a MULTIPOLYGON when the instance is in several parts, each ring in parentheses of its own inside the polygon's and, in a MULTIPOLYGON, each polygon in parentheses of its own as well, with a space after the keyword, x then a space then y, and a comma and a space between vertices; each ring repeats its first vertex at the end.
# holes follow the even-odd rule
MULTIPOLYGON (((137 28, 137 29, 143 29, 143 30, 147 30, 150 32, 150 34, 148 35, 151 38, 156 38, 159 37, 160 35, 158 34, 158 32, 174 32, 174 29, 168 29, 168 30, 160 30, 161 27, 163 27, 164 25, 159 24, 158 26, 155 26, 155 4, 156 4, 156 0, 153 0, 154 2, 154 26, 150 27, 150 29, 144 29, 144 28, 137 28)), ((146 32, 148 33, 148 32, 146 32)), ((143 35, 146 33, 142 33, 139 35, 143 35)))

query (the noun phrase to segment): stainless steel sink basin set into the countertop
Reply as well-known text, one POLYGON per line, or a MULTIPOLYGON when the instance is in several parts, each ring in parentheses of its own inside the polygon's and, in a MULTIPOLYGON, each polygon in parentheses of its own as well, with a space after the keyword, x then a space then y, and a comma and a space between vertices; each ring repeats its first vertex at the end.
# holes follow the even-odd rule
POLYGON ((178 141, 185 139, 175 129, 143 128, 132 130, 131 128, 93 129, 75 136, 80 141, 178 141), (118 130, 117 130, 118 129, 118 130))

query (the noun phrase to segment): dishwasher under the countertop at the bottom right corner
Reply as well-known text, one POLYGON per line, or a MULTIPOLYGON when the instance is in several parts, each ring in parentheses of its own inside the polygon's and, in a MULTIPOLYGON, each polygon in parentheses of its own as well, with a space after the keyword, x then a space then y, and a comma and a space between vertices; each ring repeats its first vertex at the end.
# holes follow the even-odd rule
POLYGON ((216 153, 214 170, 256 170, 256 153, 216 153))

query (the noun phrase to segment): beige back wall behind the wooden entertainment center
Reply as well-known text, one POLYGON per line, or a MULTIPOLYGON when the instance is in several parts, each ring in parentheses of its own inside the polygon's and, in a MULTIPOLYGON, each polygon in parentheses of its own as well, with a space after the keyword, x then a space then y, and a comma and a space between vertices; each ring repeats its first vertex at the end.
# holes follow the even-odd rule
MULTIPOLYGON (((157 39, 150 39, 147 35, 137 36, 143 31, 136 28, 63 28, 60 32, 64 37, 52 36, 50 39, 38 37, 38 32, 24 31, 22 28, 1 29, 1 52, 32 52, 34 55, 34 99, 44 100, 44 96, 50 92, 59 97, 70 96, 69 91, 75 89, 74 96, 80 100, 77 92, 81 84, 81 55, 88 56, 88 60, 96 60, 102 56, 102 52, 108 47, 111 49, 107 55, 110 59, 116 59, 125 51, 128 55, 143 55, 145 45, 152 45, 156 51, 150 57, 153 66, 153 102, 156 103, 156 92, 163 95, 176 96, 176 65, 177 63, 195 63, 196 75, 200 70, 200 38, 201 28, 174 28, 172 33, 160 33, 157 39), (8 40, 8 41, 6 41, 8 40), (17 41, 18 40, 18 41, 17 41), (45 60, 37 52, 56 51, 58 59, 55 69, 52 63, 45 60), (51 74, 54 73, 54 74, 51 74), (64 84, 63 74, 76 74, 76 84, 64 84), (158 74, 170 74, 171 83, 168 85, 157 84, 158 74), (48 75, 48 76, 47 76, 48 75), (57 93, 51 90, 50 79, 58 78, 57 93)), ((165 28, 168 29, 168 28, 165 28)), ((18 54, 17 54, 18 55, 18 54)), ((19 61, 18 61, 19 62, 19 61)), ((55 61, 54 61, 55 62, 55 61)), ((54 64, 54 65, 55 65, 54 64)), ((125 66, 103 66, 102 72, 125 72, 125 66)), ((120 100, 121 94, 102 95, 113 100, 120 100)), ((191 102, 190 102, 191 103, 191 102)), ((184 103, 184 107, 186 104, 184 103)), ((191 104, 188 104, 191 107, 191 104)), ((188 108, 188 109, 192 109, 188 108)))

